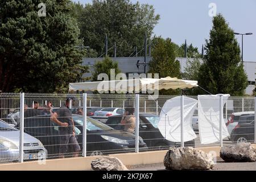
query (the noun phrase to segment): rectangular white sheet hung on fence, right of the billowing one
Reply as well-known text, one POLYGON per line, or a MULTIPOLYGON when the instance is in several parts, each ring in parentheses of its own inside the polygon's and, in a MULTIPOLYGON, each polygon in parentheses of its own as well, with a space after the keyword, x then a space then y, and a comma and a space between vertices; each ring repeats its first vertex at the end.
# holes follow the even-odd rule
MULTIPOLYGON (((229 94, 199 95, 198 96, 198 125, 202 144, 218 142, 220 140, 220 96, 222 105, 226 103, 229 94)), ((223 108, 222 108, 223 110, 223 108)), ((222 138, 228 137, 222 115, 222 138)))

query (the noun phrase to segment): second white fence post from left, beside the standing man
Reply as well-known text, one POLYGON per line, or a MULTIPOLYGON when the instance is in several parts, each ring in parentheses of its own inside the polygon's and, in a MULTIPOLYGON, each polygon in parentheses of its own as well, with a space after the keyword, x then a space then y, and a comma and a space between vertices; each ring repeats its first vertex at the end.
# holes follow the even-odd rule
POLYGON ((82 110, 83 115, 82 115, 82 156, 86 157, 86 137, 87 137, 87 93, 82 94, 82 110))

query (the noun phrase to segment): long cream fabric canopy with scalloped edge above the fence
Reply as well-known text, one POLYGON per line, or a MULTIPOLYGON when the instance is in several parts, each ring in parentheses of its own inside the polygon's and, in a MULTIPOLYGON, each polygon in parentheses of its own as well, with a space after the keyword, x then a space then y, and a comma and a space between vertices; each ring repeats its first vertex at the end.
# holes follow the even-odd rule
POLYGON ((112 80, 70 83, 69 91, 95 91, 106 92, 139 92, 141 90, 161 90, 161 89, 184 89, 198 86, 197 81, 180 80, 178 78, 137 78, 133 80, 112 80))

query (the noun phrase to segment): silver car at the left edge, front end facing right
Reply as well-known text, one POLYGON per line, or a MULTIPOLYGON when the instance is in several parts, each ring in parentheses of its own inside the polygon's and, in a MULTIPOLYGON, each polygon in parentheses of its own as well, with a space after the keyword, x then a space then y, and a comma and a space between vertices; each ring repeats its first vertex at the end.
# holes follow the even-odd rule
MULTIPOLYGON (((0 162, 19 159, 19 130, 0 119, 0 162)), ((41 159, 47 155, 40 140, 24 133, 24 160, 41 159)))

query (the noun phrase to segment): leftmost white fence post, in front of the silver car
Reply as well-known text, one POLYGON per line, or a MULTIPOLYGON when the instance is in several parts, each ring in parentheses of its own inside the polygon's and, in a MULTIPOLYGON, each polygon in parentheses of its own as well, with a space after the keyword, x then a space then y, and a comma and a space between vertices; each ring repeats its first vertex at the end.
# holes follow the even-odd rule
POLYGON ((24 144, 24 93, 20 94, 20 121, 19 121, 19 162, 23 163, 24 144))

